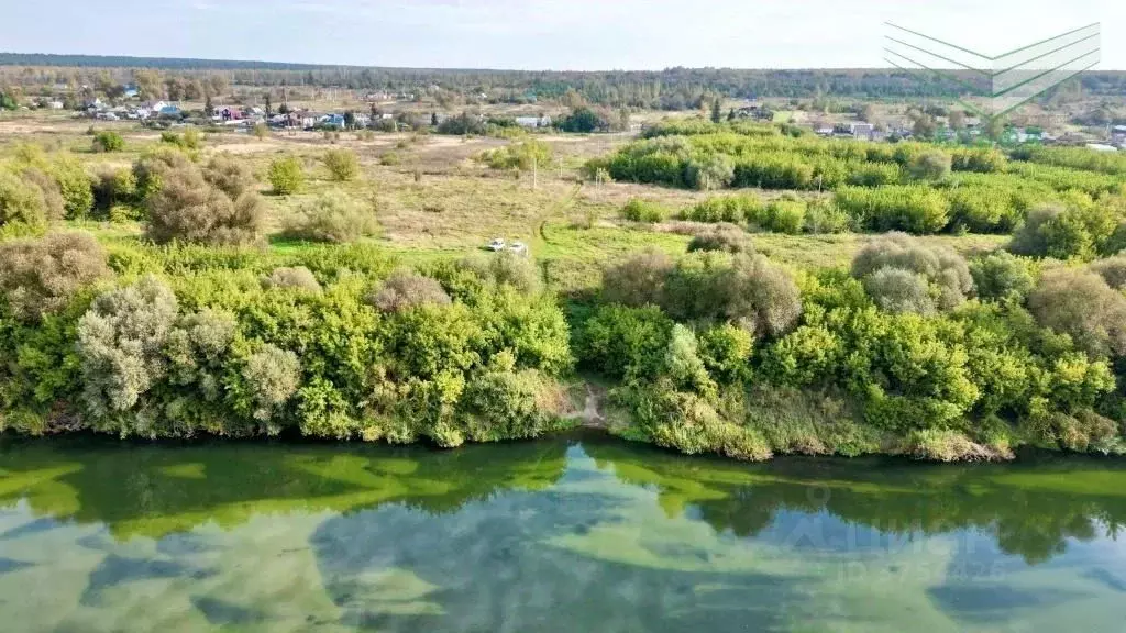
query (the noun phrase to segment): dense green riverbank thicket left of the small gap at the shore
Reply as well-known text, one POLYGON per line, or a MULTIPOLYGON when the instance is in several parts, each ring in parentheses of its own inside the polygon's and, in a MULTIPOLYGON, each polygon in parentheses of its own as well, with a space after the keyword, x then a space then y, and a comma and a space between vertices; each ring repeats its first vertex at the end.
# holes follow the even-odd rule
POLYGON ((564 404, 568 324, 521 258, 0 249, 0 430, 456 446, 536 436, 564 404))

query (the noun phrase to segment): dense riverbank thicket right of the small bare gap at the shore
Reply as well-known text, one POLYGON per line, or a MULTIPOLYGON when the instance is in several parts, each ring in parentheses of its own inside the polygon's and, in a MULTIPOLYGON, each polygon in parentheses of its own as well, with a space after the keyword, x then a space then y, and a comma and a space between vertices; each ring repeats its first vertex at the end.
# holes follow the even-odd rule
POLYGON ((622 381, 618 433, 750 460, 1003 457, 1021 444, 1126 452, 1123 257, 1042 273, 1004 251, 967 262, 888 235, 848 273, 790 280, 799 301, 783 289, 788 274, 738 261, 651 252, 607 270, 575 351, 622 381), (733 310, 733 295, 777 315, 774 327, 733 310), (758 400, 778 398, 763 393, 805 404, 765 411, 758 400))

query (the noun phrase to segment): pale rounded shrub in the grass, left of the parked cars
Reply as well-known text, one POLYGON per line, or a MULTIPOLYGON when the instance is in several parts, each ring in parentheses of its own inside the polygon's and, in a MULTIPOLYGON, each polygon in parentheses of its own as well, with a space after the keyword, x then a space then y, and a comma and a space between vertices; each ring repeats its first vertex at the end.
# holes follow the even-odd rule
POLYGON ((354 242, 376 230, 375 213, 368 205, 340 190, 329 190, 302 203, 286 219, 286 237, 312 242, 354 242))

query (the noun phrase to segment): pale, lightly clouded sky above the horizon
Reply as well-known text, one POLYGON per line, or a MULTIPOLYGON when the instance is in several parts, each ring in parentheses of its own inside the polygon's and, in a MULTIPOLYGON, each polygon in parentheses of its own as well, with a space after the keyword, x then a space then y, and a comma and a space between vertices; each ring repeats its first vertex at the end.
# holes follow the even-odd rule
POLYGON ((0 0, 0 51, 526 70, 885 68, 885 21, 986 54, 1102 24, 1123 0, 0 0), (48 7, 45 10, 45 7, 48 7))

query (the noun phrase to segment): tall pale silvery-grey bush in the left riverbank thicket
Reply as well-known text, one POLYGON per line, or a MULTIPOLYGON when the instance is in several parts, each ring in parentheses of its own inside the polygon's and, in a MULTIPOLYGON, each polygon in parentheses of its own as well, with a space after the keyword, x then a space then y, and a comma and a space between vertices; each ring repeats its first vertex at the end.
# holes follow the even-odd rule
MULTIPOLYGON (((98 296, 79 321, 82 404, 96 420, 137 404, 164 376, 161 348, 176 322, 176 295, 155 277, 98 296)), ((144 418, 120 422, 122 436, 152 436, 144 418)))

